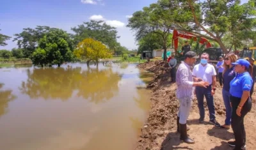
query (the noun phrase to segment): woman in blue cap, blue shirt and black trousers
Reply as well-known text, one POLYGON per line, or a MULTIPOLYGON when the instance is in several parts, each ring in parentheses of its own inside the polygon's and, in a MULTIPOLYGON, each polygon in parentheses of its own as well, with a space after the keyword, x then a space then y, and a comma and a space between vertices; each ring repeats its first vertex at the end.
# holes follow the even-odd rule
POLYGON ((244 116, 252 109, 250 90, 252 77, 248 73, 250 63, 245 59, 238 59, 235 66, 237 76, 230 82, 230 102, 232 105, 231 126, 234 131, 235 141, 228 142, 235 146, 234 150, 245 149, 246 135, 244 130, 244 116))

